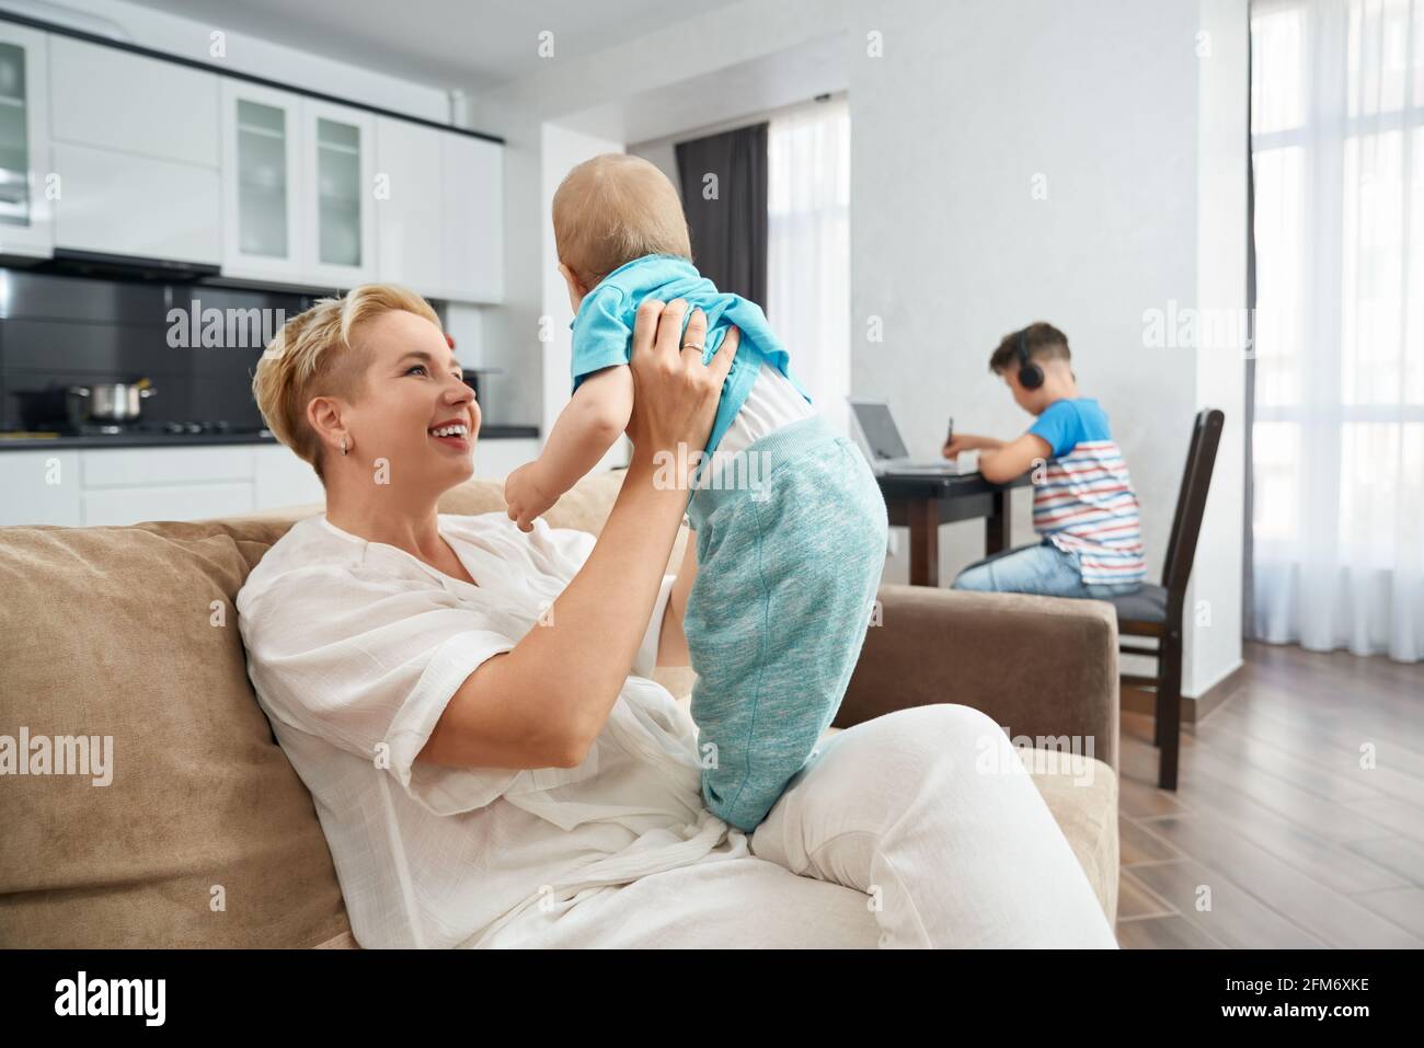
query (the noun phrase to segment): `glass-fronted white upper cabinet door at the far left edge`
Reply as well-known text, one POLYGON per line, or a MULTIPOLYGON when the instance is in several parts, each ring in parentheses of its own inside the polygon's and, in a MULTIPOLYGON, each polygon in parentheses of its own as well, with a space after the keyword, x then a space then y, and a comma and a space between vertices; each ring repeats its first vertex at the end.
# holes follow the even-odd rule
POLYGON ((0 23, 0 255, 54 252, 46 34, 0 23))

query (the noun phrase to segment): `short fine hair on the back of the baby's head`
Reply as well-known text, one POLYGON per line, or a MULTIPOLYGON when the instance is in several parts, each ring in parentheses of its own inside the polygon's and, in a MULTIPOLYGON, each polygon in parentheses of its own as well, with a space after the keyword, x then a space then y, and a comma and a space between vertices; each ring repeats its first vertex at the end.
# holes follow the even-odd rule
POLYGON ((692 261, 692 239, 678 191, 642 157, 605 152, 564 175, 554 192, 558 261, 592 289, 644 255, 692 261))

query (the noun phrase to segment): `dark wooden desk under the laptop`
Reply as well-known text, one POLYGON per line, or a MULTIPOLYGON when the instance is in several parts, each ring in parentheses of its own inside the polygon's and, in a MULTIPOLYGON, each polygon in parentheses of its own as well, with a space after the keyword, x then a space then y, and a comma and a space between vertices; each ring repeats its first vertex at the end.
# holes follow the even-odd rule
POLYGON ((940 524, 984 517, 984 555, 1008 548, 1008 493, 1030 474, 991 484, 964 476, 886 473, 879 477, 890 524, 910 528, 910 585, 940 584, 940 524))

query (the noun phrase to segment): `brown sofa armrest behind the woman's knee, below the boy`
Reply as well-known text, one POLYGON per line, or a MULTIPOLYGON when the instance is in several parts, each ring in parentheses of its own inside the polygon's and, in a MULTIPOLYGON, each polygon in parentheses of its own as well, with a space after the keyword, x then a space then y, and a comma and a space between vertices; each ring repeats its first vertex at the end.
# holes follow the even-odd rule
POLYGON ((1059 745, 1079 753, 1092 745, 1091 755, 1118 770, 1111 604, 889 584, 879 601, 837 728, 956 702, 988 713, 1014 738, 1065 735, 1059 745))

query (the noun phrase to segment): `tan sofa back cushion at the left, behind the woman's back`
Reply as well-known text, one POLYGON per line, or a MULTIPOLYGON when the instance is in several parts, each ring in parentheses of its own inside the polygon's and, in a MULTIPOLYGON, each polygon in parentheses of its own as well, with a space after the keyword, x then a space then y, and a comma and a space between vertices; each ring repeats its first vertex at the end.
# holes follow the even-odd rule
POLYGON ((315 945, 349 927, 232 604, 285 530, 0 528, 0 735, 112 740, 108 785, 0 783, 0 945, 315 945))

